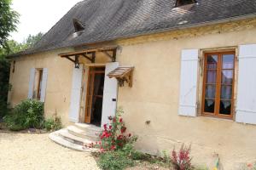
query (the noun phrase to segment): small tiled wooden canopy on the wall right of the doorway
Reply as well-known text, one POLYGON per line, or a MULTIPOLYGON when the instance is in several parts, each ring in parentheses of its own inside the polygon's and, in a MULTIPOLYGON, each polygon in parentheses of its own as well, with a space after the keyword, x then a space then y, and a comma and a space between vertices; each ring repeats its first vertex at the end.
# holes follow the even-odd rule
POLYGON ((119 86, 124 86, 124 82, 128 82, 129 87, 132 87, 133 66, 119 66, 118 68, 108 73, 109 78, 116 78, 119 86))

